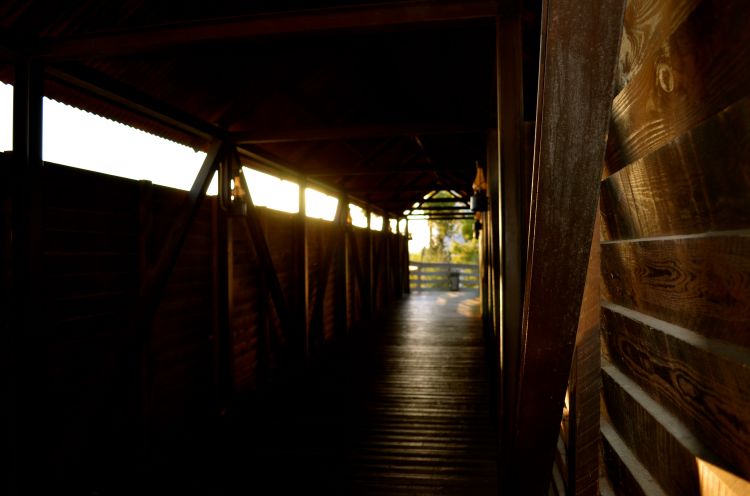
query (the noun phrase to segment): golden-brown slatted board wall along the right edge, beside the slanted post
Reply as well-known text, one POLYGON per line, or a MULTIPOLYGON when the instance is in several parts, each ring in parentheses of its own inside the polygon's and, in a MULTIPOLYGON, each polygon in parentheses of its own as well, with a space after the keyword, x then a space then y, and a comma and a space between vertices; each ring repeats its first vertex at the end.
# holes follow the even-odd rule
POLYGON ((628 4, 601 185, 616 494, 750 493, 748 19, 741 0, 628 4))

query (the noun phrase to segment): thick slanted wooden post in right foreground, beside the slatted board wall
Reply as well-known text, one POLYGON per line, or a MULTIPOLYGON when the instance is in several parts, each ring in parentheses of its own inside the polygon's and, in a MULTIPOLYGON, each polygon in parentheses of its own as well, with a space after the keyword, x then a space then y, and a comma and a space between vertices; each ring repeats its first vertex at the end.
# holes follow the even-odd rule
POLYGON ((544 4, 511 493, 552 473, 596 216, 624 0, 544 4), (564 290, 563 290, 564 289, 564 290))

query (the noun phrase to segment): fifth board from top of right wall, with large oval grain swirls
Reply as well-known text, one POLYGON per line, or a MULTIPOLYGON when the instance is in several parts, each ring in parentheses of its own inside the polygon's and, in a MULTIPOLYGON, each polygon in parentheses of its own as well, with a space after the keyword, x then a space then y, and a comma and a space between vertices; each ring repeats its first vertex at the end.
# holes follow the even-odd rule
POLYGON ((602 337, 613 363, 750 478, 750 350, 609 304, 602 337))

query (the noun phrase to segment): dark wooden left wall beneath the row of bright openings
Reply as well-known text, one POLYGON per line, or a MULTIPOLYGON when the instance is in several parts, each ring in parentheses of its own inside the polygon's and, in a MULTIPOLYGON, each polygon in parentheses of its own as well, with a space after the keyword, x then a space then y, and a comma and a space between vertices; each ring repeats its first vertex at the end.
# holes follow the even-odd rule
POLYGON ((300 216, 256 209, 271 270, 297 316, 284 328, 245 220, 208 197, 152 323, 138 329, 134 308, 187 193, 52 164, 41 177, 39 348, 24 354, 40 373, 17 381, 38 401, 18 409, 41 409, 39 470, 50 469, 55 487, 95 487, 92 474, 116 480, 170 463, 235 405, 294 380, 402 292, 386 281, 403 280, 403 236, 304 219, 305 274, 300 216), (347 249, 354 239, 359 249, 347 249), (372 309, 362 297, 371 265, 380 266, 372 309))

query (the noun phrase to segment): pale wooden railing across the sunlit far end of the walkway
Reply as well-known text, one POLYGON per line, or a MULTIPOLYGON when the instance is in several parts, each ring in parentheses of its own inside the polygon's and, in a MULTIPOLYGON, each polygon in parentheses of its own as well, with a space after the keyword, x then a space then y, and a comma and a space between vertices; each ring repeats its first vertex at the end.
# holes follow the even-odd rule
POLYGON ((476 264, 428 263, 409 261, 409 287, 412 291, 460 291, 479 288, 476 264))

